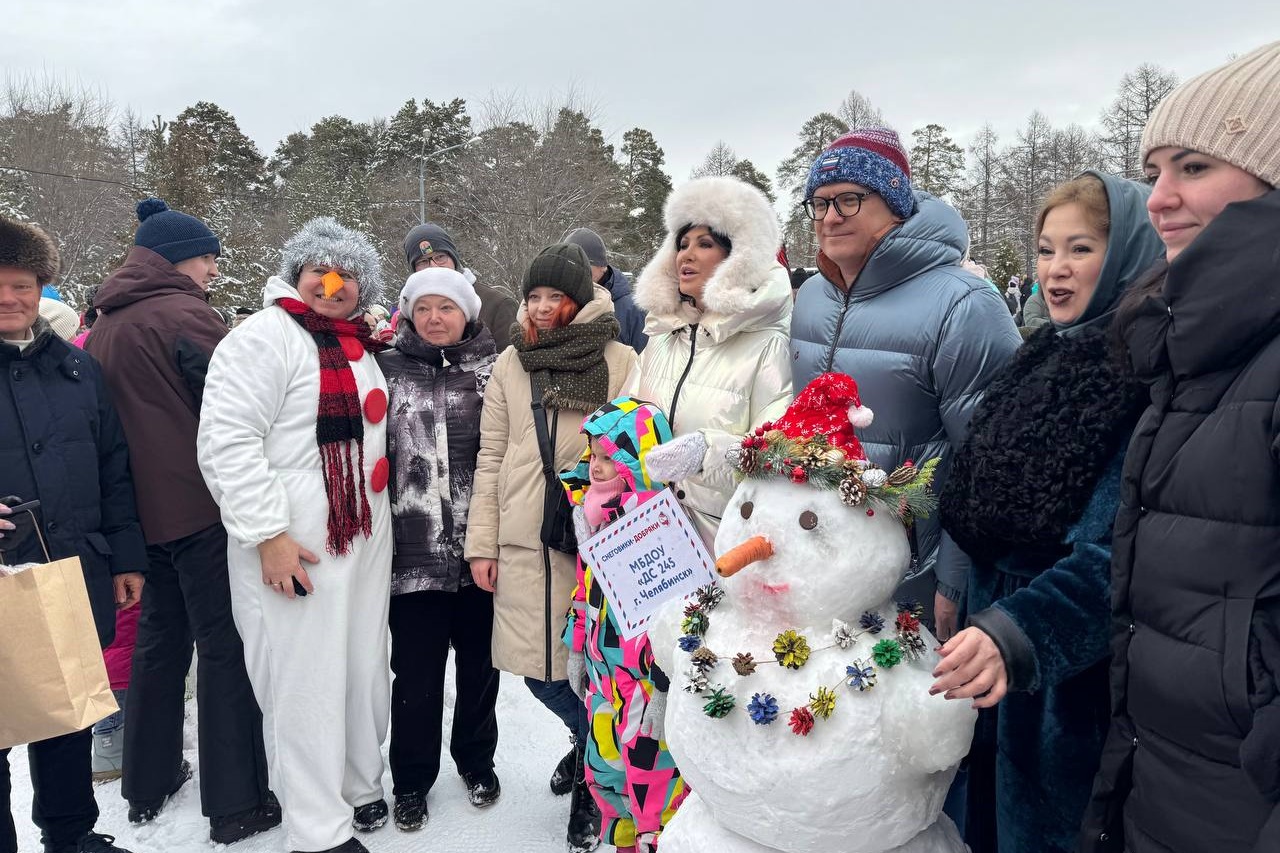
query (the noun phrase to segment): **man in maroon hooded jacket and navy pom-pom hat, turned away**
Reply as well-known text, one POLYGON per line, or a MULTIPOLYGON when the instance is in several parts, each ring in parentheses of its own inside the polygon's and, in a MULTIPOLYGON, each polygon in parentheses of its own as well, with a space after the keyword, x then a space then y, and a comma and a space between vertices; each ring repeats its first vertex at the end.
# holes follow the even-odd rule
POLYGON ((182 758, 184 679, 198 652, 200 799, 210 839, 276 826, 262 716, 232 620, 227 532, 196 462, 205 373, 227 324, 209 305, 221 246, 159 199, 138 204, 134 246, 99 288, 86 350, 120 412, 147 540, 147 597, 124 713, 129 821, 151 821, 191 777, 182 758))

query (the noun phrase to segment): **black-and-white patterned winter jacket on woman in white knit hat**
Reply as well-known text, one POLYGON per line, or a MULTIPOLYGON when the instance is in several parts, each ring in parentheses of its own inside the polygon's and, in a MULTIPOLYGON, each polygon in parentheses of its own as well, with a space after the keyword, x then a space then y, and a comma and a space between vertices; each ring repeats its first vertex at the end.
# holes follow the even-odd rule
POLYGON ((467 327, 461 343, 431 346, 407 318, 394 345, 378 355, 388 392, 392 594, 457 592, 474 583, 462 546, 497 347, 480 323, 467 327))

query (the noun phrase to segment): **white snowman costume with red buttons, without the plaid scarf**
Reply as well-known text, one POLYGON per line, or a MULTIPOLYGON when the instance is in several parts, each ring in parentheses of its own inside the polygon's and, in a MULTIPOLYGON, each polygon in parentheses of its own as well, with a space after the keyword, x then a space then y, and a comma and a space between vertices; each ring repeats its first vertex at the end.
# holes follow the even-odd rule
POLYGON ((349 551, 335 557, 325 551, 316 343, 275 305, 280 297, 300 298, 287 280, 273 277, 265 307, 214 351, 198 452, 230 537, 232 610, 262 708, 288 849, 328 850, 352 836, 353 808, 383 798, 393 547, 385 491, 387 384, 371 353, 356 357, 356 347, 344 347, 365 410, 364 476, 372 532, 369 538, 357 533, 349 551), (256 546, 283 532, 320 557, 305 566, 315 585, 307 597, 291 599, 262 583, 256 546))

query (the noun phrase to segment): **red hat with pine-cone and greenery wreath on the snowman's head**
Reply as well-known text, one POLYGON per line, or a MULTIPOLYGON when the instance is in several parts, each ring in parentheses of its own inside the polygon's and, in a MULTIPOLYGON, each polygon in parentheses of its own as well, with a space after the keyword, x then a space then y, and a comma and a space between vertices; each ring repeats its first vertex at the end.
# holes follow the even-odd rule
MULTIPOLYGON (((730 456, 744 476, 786 476, 796 484, 840 492, 845 506, 873 505, 910 524, 937 506, 929 491, 938 460, 911 461, 886 473, 867 460, 855 428, 872 423, 858 383, 824 373, 796 394, 782 418, 756 426, 730 456)), ((867 507, 868 515, 876 510, 867 507)))

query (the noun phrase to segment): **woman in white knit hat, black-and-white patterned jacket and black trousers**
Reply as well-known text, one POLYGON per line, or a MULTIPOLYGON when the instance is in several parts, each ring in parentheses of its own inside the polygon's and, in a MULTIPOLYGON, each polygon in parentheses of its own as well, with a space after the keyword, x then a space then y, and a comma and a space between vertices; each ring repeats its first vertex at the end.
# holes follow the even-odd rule
POLYGON ((396 826, 428 818, 440 771, 444 672, 454 651, 457 699, 449 753, 472 806, 500 788, 493 594, 475 585, 462 556, 480 453, 480 407, 498 357, 480 297, 456 270, 428 266, 401 291, 394 350, 378 355, 387 377, 392 464, 392 743, 396 826))

